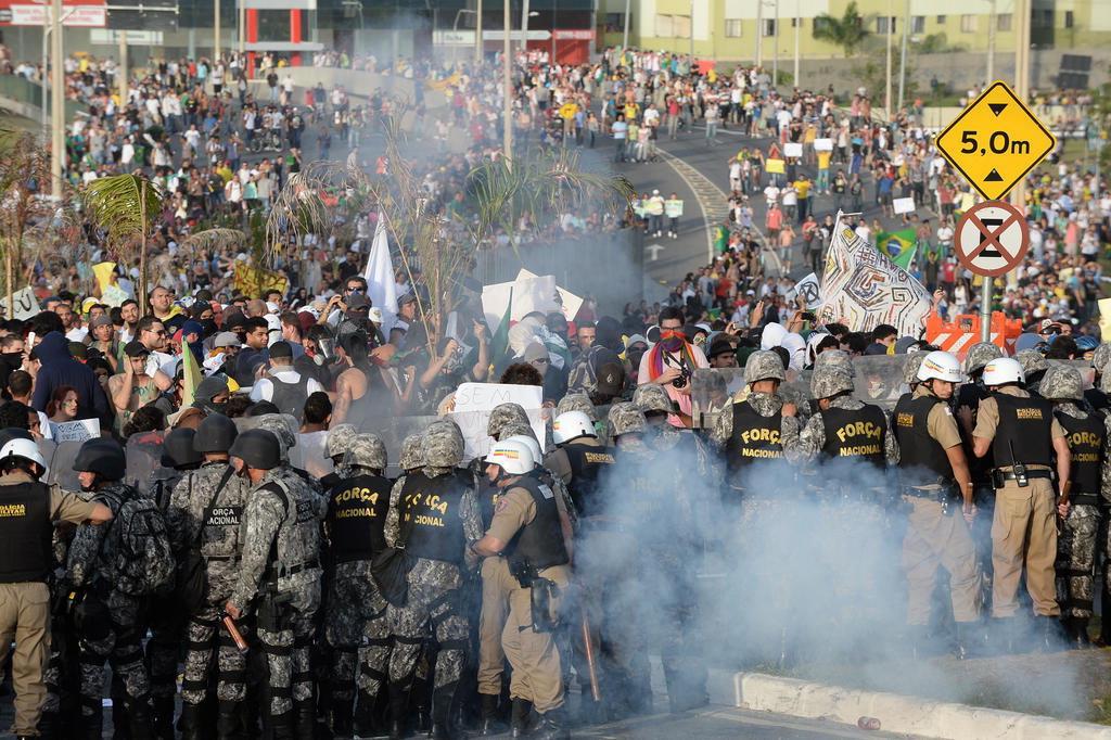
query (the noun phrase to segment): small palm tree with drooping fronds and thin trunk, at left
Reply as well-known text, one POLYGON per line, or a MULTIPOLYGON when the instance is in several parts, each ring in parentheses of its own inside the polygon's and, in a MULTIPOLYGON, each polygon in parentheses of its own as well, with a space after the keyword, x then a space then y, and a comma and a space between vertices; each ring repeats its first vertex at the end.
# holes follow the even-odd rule
POLYGON ((107 244, 123 261, 134 259, 139 246, 139 311, 147 313, 147 242, 162 213, 162 193, 137 174, 99 178, 81 191, 90 220, 104 232, 107 244))

